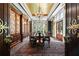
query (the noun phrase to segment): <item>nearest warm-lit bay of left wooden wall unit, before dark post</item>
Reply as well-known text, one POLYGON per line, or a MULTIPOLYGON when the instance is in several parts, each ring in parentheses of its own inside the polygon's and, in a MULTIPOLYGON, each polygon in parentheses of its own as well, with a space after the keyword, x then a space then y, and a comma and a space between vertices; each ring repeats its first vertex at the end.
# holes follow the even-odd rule
POLYGON ((18 14, 16 10, 12 8, 10 8, 10 25, 9 26, 10 26, 10 35, 12 38, 12 45, 13 45, 15 44, 15 42, 21 40, 21 35, 20 35, 20 14, 18 14))

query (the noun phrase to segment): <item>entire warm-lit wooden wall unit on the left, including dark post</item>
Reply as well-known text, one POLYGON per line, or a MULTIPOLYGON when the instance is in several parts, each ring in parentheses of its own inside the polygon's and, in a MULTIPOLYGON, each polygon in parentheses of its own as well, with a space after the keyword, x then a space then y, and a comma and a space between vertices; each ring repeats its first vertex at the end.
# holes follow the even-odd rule
POLYGON ((28 36, 28 17, 17 11, 12 6, 10 7, 10 35, 12 38, 11 48, 19 42, 23 41, 24 37, 28 36))

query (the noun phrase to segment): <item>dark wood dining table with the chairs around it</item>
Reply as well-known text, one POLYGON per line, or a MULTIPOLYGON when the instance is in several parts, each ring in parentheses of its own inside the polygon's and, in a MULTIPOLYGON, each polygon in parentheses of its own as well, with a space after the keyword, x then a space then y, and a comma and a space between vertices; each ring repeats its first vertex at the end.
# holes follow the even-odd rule
POLYGON ((44 42, 47 41, 50 47, 50 36, 44 35, 42 33, 35 33, 30 36, 30 43, 33 47, 44 47, 44 42))

